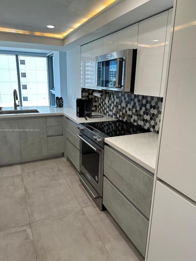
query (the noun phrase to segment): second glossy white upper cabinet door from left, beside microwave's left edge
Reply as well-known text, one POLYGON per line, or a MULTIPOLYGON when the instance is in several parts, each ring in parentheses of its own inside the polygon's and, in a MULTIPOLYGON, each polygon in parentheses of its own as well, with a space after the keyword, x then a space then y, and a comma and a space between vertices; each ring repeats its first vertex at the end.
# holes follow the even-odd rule
POLYGON ((103 54, 103 38, 92 42, 92 89, 100 89, 96 87, 96 63, 95 57, 103 54))

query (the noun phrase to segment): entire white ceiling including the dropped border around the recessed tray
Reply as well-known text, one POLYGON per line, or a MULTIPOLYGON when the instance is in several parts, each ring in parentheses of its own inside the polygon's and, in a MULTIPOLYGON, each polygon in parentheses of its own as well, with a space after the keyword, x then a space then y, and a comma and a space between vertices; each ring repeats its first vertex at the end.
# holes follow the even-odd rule
MULTIPOLYGON (((112 1, 114 0, 1 0, 0 28, 6 26, 44 33, 49 30, 45 27, 46 24, 55 24, 53 32, 64 34, 67 28, 85 17, 93 7, 92 3, 97 8, 103 2, 106 4, 112 1)), ((116 0, 64 39, 1 32, 0 29, 0 50, 7 47, 12 50, 37 49, 43 50, 43 53, 50 50, 68 51, 163 12, 171 8, 173 2, 174 0, 116 0)))

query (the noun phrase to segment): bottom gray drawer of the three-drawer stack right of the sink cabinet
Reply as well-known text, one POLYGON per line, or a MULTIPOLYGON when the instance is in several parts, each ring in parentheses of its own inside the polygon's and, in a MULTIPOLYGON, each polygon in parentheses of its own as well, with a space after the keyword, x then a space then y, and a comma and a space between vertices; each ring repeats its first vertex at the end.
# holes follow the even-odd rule
POLYGON ((64 152, 63 136, 47 137, 48 154, 64 152))

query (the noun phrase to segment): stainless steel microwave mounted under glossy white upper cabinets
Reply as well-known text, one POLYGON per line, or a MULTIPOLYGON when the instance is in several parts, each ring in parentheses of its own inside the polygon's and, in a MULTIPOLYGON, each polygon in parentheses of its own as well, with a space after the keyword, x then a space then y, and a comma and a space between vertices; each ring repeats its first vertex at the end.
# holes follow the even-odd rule
POLYGON ((137 49, 96 56, 96 87, 134 92, 137 49))

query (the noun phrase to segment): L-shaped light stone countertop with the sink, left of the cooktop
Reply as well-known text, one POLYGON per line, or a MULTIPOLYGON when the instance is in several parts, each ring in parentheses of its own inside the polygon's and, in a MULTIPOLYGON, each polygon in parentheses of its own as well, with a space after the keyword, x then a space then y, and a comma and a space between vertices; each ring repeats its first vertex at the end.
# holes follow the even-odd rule
MULTIPOLYGON (((17 110, 34 110, 37 109, 39 113, 17 113, 17 114, 0 114, 0 120, 3 119, 9 119, 9 118, 18 118, 18 117, 40 117, 40 116, 55 116, 55 115, 64 115, 68 117, 70 120, 76 122, 76 123, 82 123, 82 122, 100 122, 100 121, 116 121, 117 119, 98 113, 98 112, 92 112, 92 115, 103 115, 104 117, 101 118, 92 118, 86 121, 84 117, 79 118, 76 117, 76 108, 69 108, 69 107, 63 107, 63 108, 56 108, 55 106, 29 106, 29 107, 17 107, 17 110)), ((13 107, 7 107, 3 108, 3 110, 13 110, 13 107)))

